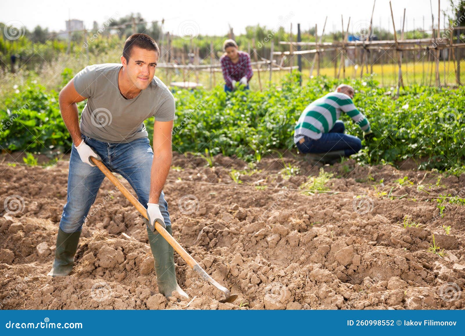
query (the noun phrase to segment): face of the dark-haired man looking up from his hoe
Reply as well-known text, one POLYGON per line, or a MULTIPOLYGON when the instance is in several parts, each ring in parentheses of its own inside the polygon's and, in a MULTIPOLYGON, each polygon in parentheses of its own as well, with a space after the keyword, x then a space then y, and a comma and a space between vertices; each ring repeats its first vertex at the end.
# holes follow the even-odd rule
MULTIPOLYGON (((144 90, 152 82, 158 63, 158 52, 134 47, 126 61, 126 74, 133 87, 144 90)), ((124 59, 124 58, 122 58, 124 59)))

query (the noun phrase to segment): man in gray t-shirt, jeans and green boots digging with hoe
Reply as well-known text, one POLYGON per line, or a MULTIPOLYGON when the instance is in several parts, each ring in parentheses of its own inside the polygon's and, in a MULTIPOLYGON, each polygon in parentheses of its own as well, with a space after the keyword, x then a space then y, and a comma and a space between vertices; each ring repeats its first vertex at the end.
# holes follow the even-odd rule
POLYGON ((63 207, 55 260, 48 273, 71 273, 86 216, 105 175, 90 157, 131 184, 141 204, 147 204, 147 234, 155 260, 159 292, 177 290, 173 247, 148 225, 154 222, 172 235, 162 191, 171 166, 171 135, 175 103, 172 93, 154 76, 159 59, 156 42, 146 34, 133 34, 125 42, 121 64, 86 66, 60 92, 60 110, 73 139, 66 204, 63 207), (79 123, 76 103, 87 99, 79 123), (155 117, 153 150, 144 120, 155 117))

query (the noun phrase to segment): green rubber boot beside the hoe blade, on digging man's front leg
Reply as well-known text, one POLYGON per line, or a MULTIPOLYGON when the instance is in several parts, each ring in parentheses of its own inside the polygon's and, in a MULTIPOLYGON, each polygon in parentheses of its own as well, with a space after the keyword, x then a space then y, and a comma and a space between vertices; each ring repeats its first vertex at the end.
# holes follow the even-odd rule
MULTIPOLYGON (((166 226, 166 231, 173 236, 171 225, 166 226)), ((179 295, 189 298, 176 281, 176 270, 174 268, 173 247, 157 231, 152 232, 147 227, 148 241, 155 260, 155 274, 157 275, 158 290, 161 294, 171 296, 173 290, 177 290, 179 295)))

